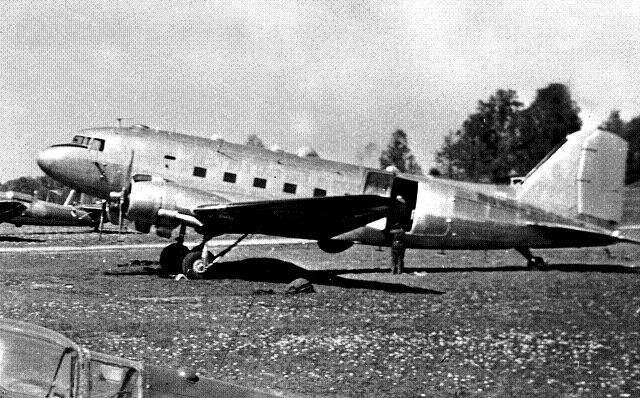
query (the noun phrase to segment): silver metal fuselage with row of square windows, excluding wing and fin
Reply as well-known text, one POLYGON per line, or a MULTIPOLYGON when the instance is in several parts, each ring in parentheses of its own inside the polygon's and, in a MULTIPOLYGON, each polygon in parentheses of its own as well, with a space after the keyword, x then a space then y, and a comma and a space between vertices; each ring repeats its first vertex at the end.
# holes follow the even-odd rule
MULTIPOLYGON (((615 239, 584 239, 551 233, 531 222, 589 226, 515 199, 516 188, 393 174, 319 158, 144 127, 94 128, 78 132, 74 144, 43 151, 40 167, 78 191, 101 198, 120 191, 132 174, 159 177, 176 186, 225 198, 256 201, 313 196, 401 195, 411 209, 403 220, 413 248, 499 249, 600 246, 615 239), (80 137, 80 138, 77 138, 80 137), (83 138, 89 140, 83 142, 83 138)), ((210 203, 193 203, 204 205, 210 203)), ((150 220, 151 222, 151 220, 150 220)), ((388 245, 386 220, 334 239, 388 245)))

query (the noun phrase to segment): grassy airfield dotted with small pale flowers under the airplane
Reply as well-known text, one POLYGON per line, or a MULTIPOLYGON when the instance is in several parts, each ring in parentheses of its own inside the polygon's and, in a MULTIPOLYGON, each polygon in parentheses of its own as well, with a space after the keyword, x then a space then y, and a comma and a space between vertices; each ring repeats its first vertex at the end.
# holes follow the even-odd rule
MULTIPOLYGON (((79 231, 1 226, 0 248, 167 242, 79 231)), ((393 276, 386 250, 268 244, 174 281, 153 273, 157 248, 4 252, 0 314, 302 396, 640 396, 640 247, 538 253, 550 270, 512 251, 410 250, 393 276), (316 293, 282 294, 299 276, 316 293)))

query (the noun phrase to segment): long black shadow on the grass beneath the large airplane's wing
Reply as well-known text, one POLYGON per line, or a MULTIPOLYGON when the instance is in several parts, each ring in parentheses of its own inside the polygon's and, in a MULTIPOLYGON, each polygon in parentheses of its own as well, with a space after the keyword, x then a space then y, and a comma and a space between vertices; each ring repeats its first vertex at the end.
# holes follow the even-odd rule
POLYGON ((381 290, 390 293, 444 293, 401 283, 343 278, 339 276, 341 273, 351 273, 351 271, 310 271, 288 261, 273 258, 248 258, 217 263, 214 269, 205 275, 204 279, 241 279, 253 282, 289 283, 297 278, 305 278, 313 284, 345 289, 381 290))

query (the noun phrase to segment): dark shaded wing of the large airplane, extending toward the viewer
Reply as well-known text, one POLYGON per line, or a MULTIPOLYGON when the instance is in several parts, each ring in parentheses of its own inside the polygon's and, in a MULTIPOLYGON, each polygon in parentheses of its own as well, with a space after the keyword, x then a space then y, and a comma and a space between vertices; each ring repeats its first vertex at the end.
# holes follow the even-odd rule
POLYGON ((386 217, 390 198, 327 196, 227 203, 193 210, 208 232, 327 239, 386 217))

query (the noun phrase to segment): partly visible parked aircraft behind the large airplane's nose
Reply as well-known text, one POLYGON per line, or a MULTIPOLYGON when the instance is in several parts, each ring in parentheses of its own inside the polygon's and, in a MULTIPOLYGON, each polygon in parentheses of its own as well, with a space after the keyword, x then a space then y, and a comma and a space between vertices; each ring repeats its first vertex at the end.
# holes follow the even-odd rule
POLYGON ((0 223, 23 225, 98 227, 100 207, 50 203, 20 192, 0 192, 0 223))

